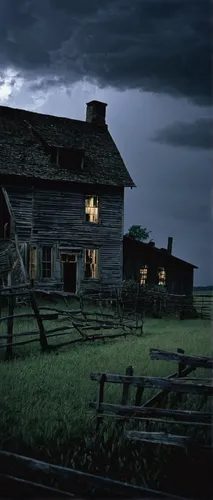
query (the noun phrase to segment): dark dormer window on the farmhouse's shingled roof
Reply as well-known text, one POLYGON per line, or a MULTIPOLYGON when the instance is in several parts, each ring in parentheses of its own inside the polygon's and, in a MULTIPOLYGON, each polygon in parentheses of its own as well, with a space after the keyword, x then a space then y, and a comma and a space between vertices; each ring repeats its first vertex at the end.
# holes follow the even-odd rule
POLYGON ((61 168, 82 170, 84 166, 83 149, 55 147, 51 157, 61 168))

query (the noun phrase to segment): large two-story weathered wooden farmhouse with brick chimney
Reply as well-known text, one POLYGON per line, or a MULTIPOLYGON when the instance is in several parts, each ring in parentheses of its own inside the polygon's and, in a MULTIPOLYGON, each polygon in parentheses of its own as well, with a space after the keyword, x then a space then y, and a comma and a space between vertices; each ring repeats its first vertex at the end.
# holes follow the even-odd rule
POLYGON ((124 188, 135 184, 106 106, 89 102, 85 121, 0 106, 4 277, 13 267, 16 281, 26 273, 40 288, 71 293, 121 284, 124 188))

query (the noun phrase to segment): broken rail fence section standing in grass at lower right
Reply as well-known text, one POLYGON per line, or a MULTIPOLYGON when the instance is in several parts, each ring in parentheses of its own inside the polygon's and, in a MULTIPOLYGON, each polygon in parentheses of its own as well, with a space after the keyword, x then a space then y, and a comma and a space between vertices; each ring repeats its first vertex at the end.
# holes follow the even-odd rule
MULTIPOLYGON (((187 375, 196 370, 196 368, 212 368, 213 359, 199 356, 186 356, 182 349, 178 352, 168 352, 158 349, 150 350, 151 359, 166 360, 178 363, 177 372, 169 375, 168 377, 148 377, 148 376, 135 376, 134 370, 130 366, 126 369, 125 375, 114 373, 91 373, 90 378, 99 383, 98 399, 96 402, 91 402, 90 407, 96 409, 97 414, 97 430, 103 419, 106 416, 114 417, 117 419, 133 419, 137 421, 156 422, 165 424, 183 424, 183 425, 197 425, 207 426, 211 428, 212 414, 208 412, 201 412, 201 408, 205 404, 209 396, 213 396, 212 379, 208 378, 188 378, 187 375), (119 404, 112 404, 104 402, 104 388, 106 383, 122 384, 123 392, 121 402, 119 404), (129 404, 130 389, 136 387, 136 395, 134 405, 129 404), (145 401, 143 404, 142 396, 146 388, 161 389, 157 395, 145 401), (192 410, 174 410, 168 408, 159 408, 159 404, 165 406, 165 402, 169 393, 176 394, 178 403, 181 402, 182 394, 196 394, 200 395, 201 404, 199 411, 192 410), (162 417, 169 418, 169 420, 162 420, 162 417)), ((176 446, 198 446, 190 438, 185 436, 176 436, 167 433, 147 433, 141 431, 129 431, 127 433, 128 439, 158 442, 161 444, 173 444, 176 446)), ((205 445, 201 446, 205 448, 205 445)), ((208 448, 208 447, 207 447, 208 448)))

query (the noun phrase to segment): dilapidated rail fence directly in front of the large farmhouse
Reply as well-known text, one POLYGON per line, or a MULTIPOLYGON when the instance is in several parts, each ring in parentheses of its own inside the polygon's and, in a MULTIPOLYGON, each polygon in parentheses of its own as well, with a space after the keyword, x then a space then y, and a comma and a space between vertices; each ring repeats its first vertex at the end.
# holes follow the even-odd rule
POLYGON ((45 292, 37 290, 30 285, 16 285, 13 287, 0 289, 1 297, 7 298, 8 313, 6 316, 0 317, 0 323, 7 323, 5 334, 0 335, 0 348, 5 348, 5 360, 10 360, 14 357, 13 348, 21 345, 26 345, 32 342, 40 342, 42 351, 55 350, 69 344, 78 342, 112 339, 117 337, 126 337, 129 334, 143 333, 143 318, 124 318, 119 314, 119 308, 114 314, 104 311, 101 306, 99 311, 89 311, 84 307, 83 297, 78 297, 79 307, 77 309, 69 308, 66 298, 70 294, 63 292, 45 292), (63 298, 66 303, 66 308, 57 308, 54 306, 39 306, 37 295, 46 294, 49 297, 63 298), (31 305, 31 311, 15 314, 16 298, 27 297, 31 305), (14 332, 14 320, 23 318, 36 319, 38 329, 28 330, 24 332, 14 332), (44 321, 58 321, 60 326, 46 329, 44 321), (62 325, 62 322, 67 321, 68 325, 62 325), (103 331, 109 333, 103 333, 103 331), (49 339, 59 337, 75 332, 77 338, 72 338, 57 344, 50 344, 49 339), (97 333, 98 332, 98 333, 97 333), (33 337, 28 338, 26 337, 33 337), (18 338, 18 340, 16 340, 18 338), (24 338, 23 340, 19 340, 24 338), (14 341, 15 339, 15 341, 14 341), (2 342, 5 341, 5 342, 2 342))

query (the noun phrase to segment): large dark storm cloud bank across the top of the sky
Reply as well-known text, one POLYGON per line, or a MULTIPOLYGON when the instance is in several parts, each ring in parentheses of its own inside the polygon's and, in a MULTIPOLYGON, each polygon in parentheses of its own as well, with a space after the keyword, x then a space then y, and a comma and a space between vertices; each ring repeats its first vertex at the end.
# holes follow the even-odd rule
POLYGON ((1 0, 0 19, 1 69, 34 90, 86 78, 211 102, 209 0, 1 0))

